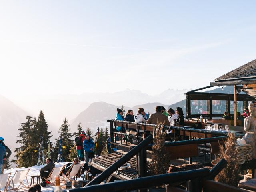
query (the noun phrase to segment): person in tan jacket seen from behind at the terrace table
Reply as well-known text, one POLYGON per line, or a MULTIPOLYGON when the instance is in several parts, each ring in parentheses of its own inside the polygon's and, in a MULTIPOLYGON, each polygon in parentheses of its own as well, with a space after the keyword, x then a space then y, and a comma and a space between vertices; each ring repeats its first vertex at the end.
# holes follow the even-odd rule
POLYGON ((168 117, 162 114, 162 107, 156 106, 156 112, 151 114, 147 120, 147 123, 150 124, 162 124, 162 125, 170 125, 168 117))

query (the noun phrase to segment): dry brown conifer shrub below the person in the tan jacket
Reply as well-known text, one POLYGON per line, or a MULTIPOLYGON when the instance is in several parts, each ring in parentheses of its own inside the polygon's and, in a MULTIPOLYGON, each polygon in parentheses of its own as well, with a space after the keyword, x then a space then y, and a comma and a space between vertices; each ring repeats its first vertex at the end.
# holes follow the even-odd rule
MULTIPOLYGON (((154 128, 154 145, 152 146, 152 162, 149 168, 151 175, 158 175, 167 173, 170 166, 169 154, 166 153, 166 147, 164 146, 166 132, 163 131, 163 126, 157 124, 154 128)), ((149 188, 150 192, 165 191, 165 186, 156 186, 155 188, 149 188)))

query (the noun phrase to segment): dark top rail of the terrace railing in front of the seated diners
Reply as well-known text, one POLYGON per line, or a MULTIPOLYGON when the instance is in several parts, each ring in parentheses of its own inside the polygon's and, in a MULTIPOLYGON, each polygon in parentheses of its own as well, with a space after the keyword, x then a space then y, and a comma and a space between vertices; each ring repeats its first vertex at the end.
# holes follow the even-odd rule
MULTIPOLYGON (((141 126, 156 126, 155 124, 148 124, 148 123, 135 123, 135 122, 128 122, 128 121, 120 121, 120 120, 114 120, 114 119, 108 119, 107 122, 121 122, 121 123, 129 123, 134 125, 141 125, 141 126)), ((196 122, 195 122, 196 123, 196 122)), ((164 128, 166 129, 173 129, 173 130, 180 130, 180 131, 191 131, 196 133, 206 133, 206 134, 215 134, 215 135, 227 135, 227 132, 220 132, 220 131, 210 131, 210 130, 204 130, 204 129, 195 129, 195 128, 185 128, 185 127, 176 127, 176 126, 167 126, 164 125, 164 128)))

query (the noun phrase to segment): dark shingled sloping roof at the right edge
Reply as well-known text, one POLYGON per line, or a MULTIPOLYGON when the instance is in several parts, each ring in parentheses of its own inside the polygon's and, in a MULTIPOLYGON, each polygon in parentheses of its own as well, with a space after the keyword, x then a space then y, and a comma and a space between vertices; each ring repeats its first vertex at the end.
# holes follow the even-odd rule
POLYGON ((214 81, 241 80, 256 77, 256 60, 246 63, 218 78, 214 81))

